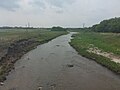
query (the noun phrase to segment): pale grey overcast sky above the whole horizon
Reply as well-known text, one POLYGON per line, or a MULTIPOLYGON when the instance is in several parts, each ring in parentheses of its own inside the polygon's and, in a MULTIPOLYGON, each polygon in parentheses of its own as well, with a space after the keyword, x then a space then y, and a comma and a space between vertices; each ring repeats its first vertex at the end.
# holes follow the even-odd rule
POLYGON ((120 0, 0 0, 0 26, 82 27, 120 16, 120 0))

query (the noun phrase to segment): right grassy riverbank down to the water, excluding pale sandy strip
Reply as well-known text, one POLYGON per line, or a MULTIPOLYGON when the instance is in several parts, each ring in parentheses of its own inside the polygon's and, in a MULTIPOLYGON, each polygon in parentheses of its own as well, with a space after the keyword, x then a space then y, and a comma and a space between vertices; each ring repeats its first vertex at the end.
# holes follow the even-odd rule
POLYGON ((79 32, 73 35, 70 44, 76 51, 84 57, 95 60, 97 63, 107 67, 108 69, 120 74, 120 63, 111 61, 110 58, 88 52, 89 48, 95 46, 102 51, 120 55, 120 34, 113 33, 94 33, 94 32, 79 32))

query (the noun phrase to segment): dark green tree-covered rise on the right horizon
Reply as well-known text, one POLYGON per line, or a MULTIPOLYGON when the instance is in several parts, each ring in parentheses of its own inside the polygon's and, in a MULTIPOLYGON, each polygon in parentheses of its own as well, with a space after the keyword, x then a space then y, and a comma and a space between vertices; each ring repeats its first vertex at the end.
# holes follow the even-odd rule
POLYGON ((93 25, 92 31, 120 33, 120 17, 104 20, 100 24, 93 25))

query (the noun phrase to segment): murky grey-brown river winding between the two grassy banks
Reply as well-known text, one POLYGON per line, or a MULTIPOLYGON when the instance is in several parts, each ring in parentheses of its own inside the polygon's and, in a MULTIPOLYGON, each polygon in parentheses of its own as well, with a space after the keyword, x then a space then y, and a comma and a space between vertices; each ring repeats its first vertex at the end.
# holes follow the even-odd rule
POLYGON ((120 90, 120 76, 78 55, 68 43, 71 35, 24 55, 0 90, 120 90))

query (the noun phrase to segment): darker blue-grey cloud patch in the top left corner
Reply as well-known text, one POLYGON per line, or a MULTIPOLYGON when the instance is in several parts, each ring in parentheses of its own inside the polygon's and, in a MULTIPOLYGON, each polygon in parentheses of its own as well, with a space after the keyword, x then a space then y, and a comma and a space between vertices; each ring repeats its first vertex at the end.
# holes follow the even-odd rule
POLYGON ((0 8, 4 8, 8 11, 15 11, 16 8, 19 8, 19 0, 0 0, 0 8))

